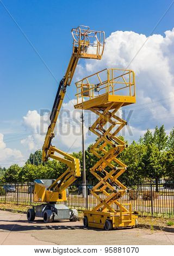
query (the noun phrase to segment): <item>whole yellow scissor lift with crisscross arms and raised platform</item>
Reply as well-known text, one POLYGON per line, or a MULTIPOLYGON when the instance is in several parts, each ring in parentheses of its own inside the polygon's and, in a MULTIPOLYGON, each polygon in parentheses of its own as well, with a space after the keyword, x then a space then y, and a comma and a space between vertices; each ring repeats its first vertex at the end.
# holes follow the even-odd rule
POLYGON ((99 159, 90 169, 98 180, 91 190, 98 204, 94 209, 84 211, 84 216, 88 217, 89 227, 104 228, 106 220, 112 222, 113 228, 133 227, 137 215, 132 211, 131 204, 123 204, 120 201, 126 194, 127 187, 119 181, 119 177, 126 171, 127 166, 117 157, 127 145, 117 137, 117 133, 127 122, 117 112, 121 107, 135 102, 134 72, 106 69, 84 78, 77 82, 76 86, 77 97, 81 98, 81 102, 74 107, 90 110, 98 115, 95 123, 89 127, 89 130, 98 136, 90 149, 99 159), (105 76, 102 75, 103 71, 105 76), (114 74, 118 71, 121 75, 114 74), (98 95, 94 95, 94 90, 98 95), (118 95, 118 91, 122 91, 123 95, 118 95))

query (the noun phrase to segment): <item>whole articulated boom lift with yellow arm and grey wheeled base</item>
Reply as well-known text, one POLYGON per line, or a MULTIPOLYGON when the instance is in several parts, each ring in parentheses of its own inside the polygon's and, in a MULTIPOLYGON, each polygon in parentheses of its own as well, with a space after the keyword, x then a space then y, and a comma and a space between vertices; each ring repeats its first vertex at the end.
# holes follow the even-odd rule
POLYGON ((54 129, 63 103, 66 88, 70 86, 74 71, 76 70, 79 58, 101 59, 104 50, 104 32, 91 31, 89 27, 79 26, 73 28, 73 52, 66 70, 66 74, 59 83, 57 95, 55 96, 50 125, 42 147, 42 161, 49 157, 63 162, 67 165, 65 173, 56 180, 36 180, 34 187, 34 202, 44 204, 35 206, 27 212, 28 221, 33 221, 35 216, 43 217, 44 222, 52 222, 56 219, 70 219, 77 221, 77 210, 70 210, 63 204, 57 202, 66 201, 66 188, 69 187, 80 176, 80 163, 75 157, 55 148, 52 145, 54 129))

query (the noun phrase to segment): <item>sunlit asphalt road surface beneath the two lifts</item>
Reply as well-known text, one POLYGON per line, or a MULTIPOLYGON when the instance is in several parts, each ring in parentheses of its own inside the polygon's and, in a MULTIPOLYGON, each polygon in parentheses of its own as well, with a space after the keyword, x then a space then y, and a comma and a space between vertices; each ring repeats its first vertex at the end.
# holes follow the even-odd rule
POLYGON ((0 245, 173 245, 174 233, 147 229, 105 231, 82 222, 43 223, 26 215, 0 211, 0 245))

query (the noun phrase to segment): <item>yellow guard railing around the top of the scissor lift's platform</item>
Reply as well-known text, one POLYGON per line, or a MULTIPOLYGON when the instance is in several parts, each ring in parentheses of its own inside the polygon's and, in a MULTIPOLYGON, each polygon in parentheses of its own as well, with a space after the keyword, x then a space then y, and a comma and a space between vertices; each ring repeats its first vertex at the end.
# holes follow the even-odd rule
POLYGON ((135 75, 132 70, 104 69, 76 82, 77 104, 104 94, 135 96, 135 75))

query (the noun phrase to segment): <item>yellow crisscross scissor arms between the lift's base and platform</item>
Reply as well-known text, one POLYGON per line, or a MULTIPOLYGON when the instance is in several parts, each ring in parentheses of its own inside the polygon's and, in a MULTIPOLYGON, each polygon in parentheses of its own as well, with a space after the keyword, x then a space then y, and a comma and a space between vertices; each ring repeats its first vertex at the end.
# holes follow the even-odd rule
POLYGON ((91 190, 93 196, 100 202, 94 208, 95 211, 100 209, 100 211, 116 212, 116 210, 111 207, 111 205, 116 204, 122 208, 123 212, 128 212, 128 210, 118 202, 118 199, 121 198, 127 190, 127 187, 118 180, 119 176, 127 169, 126 164, 117 159, 117 156, 127 147, 125 142, 116 137, 122 127, 127 124, 125 120, 117 117, 115 114, 122 105, 123 103, 120 103, 117 108, 110 111, 113 108, 113 103, 110 103, 110 105, 102 111, 103 113, 91 109, 92 112, 99 115, 98 119, 90 127, 90 131, 94 132, 99 137, 90 150, 91 153, 100 159, 90 170, 99 181, 91 190), (104 130, 103 127, 107 123, 109 123, 110 126, 107 130, 104 130), (116 130, 111 132, 116 125, 116 130), (108 145, 110 146, 109 149, 107 149, 108 145), (107 167, 110 169, 109 172, 106 169, 107 167), (107 190, 110 190, 111 193, 108 193, 107 190), (103 199, 98 196, 97 192, 103 193, 105 198, 103 199))

